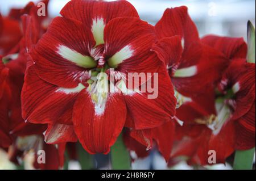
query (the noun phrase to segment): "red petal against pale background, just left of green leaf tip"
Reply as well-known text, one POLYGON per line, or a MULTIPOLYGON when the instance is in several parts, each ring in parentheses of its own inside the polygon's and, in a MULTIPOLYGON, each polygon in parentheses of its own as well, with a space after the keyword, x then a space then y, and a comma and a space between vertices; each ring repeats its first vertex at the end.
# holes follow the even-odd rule
POLYGON ((221 51, 229 59, 246 58, 247 45, 243 38, 208 35, 203 37, 201 41, 202 43, 221 51))

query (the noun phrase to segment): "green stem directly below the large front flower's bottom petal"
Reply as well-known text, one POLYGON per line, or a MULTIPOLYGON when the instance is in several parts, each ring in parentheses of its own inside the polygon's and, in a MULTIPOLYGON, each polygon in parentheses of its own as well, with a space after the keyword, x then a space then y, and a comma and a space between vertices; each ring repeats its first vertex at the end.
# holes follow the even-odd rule
POLYGON ((131 169, 130 154, 123 144, 122 134, 117 138, 117 141, 111 148, 112 169, 114 170, 129 170, 131 169))

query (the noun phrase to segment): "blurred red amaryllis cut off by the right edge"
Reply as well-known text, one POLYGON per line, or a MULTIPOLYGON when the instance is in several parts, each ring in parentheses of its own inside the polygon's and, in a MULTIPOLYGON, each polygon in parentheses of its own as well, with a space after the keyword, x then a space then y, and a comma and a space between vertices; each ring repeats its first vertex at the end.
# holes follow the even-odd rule
MULTIPOLYGON (((233 60, 218 87, 218 94, 208 96, 216 102, 216 113, 205 114, 184 106, 177 110, 186 122, 183 128, 177 128, 180 141, 173 157, 187 155, 189 163, 207 165, 208 151, 215 150, 217 162, 224 163, 234 150, 255 146, 255 64, 233 60)), ((205 106, 210 110, 212 104, 209 100, 205 106)))

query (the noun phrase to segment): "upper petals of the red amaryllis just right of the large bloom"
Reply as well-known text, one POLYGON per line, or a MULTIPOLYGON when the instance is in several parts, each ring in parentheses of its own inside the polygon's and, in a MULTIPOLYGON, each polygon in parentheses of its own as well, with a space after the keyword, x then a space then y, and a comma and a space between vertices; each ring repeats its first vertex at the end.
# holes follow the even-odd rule
POLYGON ((178 106, 186 96, 204 92, 212 82, 220 79, 226 68, 226 58, 214 48, 201 43, 187 7, 167 9, 155 25, 158 47, 152 49, 166 61, 167 69, 178 97, 178 106), (162 47, 162 49, 159 49, 162 47), (200 82, 200 83, 199 83, 200 82))

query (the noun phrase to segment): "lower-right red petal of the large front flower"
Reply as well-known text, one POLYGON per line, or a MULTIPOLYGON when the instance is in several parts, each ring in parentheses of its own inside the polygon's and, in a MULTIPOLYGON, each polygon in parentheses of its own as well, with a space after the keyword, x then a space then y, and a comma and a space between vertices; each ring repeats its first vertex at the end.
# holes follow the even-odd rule
MULTIPOLYGON (((154 78, 148 80, 154 85, 154 78)), ((148 92, 125 94, 129 124, 135 129, 148 129, 162 125, 175 115, 176 98, 174 89, 164 66, 159 68, 157 96, 150 99, 148 92), (132 120, 132 121, 131 121, 132 120)), ((155 94, 155 93, 154 93, 155 94)))

